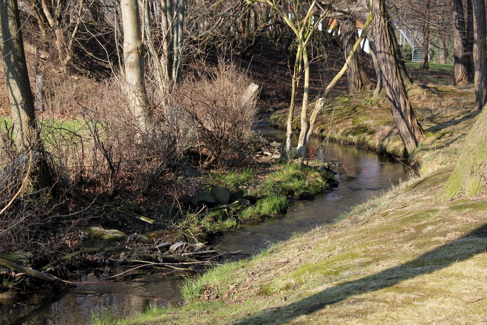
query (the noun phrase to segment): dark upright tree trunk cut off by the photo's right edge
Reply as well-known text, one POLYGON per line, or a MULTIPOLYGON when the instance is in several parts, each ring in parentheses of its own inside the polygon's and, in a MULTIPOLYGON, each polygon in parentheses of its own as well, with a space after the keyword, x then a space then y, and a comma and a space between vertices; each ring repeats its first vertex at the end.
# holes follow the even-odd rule
POLYGON ((473 34, 475 109, 481 110, 487 102, 486 6, 484 0, 473 0, 473 34))

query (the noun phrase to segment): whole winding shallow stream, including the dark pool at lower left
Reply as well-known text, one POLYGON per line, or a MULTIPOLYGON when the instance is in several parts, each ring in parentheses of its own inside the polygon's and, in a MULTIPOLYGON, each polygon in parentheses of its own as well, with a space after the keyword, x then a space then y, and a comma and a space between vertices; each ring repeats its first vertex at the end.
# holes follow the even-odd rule
MULTIPOLYGON (((257 123, 256 129, 271 141, 282 141, 284 132, 270 127, 265 119, 257 123)), ((310 145, 319 148, 321 141, 312 139, 310 145)), ((325 161, 342 163, 334 168, 339 172, 338 188, 319 194, 313 200, 291 203, 285 215, 242 225, 225 236, 215 238, 213 244, 223 242, 222 249, 258 253, 293 233, 308 231, 337 218, 340 213, 387 191, 400 179, 407 179, 411 172, 390 157, 336 142, 328 144, 326 154, 325 161)), ((79 281, 100 282, 94 276, 86 276, 79 281)), ((179 288, 184 281, 181 275, 152 274, 110 282, 109 285, 82 285, 59 294, 36 292, 4 303, 0 299, 0 324, 84 325, 90 323, 90 312, 98 306, 112 308, 117 317, 133 317, 148 306, 177 303, 179 288)))

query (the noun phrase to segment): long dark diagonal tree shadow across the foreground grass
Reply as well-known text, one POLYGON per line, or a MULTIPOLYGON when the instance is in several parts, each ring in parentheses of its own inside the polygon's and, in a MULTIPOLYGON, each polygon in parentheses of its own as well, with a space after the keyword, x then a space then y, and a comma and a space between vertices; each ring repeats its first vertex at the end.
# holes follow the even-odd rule
POLYGON ((279 309, 263 310, 245 317, 235 324, 285 324, 302 315, 308 315, 326 306, 340 303, 348 297, 392 287, 402 281, 447 268, 456 262, 467 260, 485 251, 486 241, 483 239, 486 236, 487 224, 457 240, 424 253, 411 262, 357 280, 343 282, 279 309))

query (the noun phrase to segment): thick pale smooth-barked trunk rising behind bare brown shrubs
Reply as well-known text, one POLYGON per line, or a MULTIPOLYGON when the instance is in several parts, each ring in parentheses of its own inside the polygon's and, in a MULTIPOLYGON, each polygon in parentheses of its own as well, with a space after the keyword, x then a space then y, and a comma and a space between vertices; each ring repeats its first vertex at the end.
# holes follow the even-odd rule
POLYGON ((146 132, 149 104, 144 84, 144 49, 137 0, 123 1, 120 8, 123 20, 123 54, 127 93, 132 114, 137 119, 141 132, 146 132))

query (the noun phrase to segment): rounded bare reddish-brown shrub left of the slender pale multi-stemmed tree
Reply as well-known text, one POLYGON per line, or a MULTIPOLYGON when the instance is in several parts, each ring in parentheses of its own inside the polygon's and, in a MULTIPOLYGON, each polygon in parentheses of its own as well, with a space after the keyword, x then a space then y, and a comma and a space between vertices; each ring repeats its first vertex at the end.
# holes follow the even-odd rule
POLYGON ((246 155, 257 99, 244 100, 242 94, 251 82, 235 65, 220 61, 216 73, 187 76, 171 94, 170 105, 194 121, 207 156, 204 165, 246 155))

